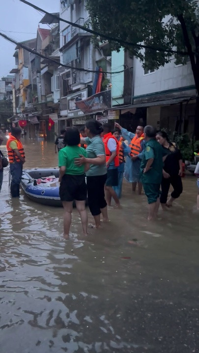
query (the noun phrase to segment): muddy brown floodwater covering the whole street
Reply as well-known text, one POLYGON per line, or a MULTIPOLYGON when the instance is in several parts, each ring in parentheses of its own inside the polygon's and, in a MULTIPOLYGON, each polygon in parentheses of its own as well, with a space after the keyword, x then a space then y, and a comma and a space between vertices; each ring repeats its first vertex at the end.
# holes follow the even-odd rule
MULTIPOLYGON (((27 141, 25 152, 24 168, 57 166, 51 143, 27 141)), ((183 195, 151 224, 145 196, 124 183, 109 224, 85 239, 74 210, 64 241, 62 208, 22 191, 11 200, 4 172, 0 353, 199 352, 196 177, 183 178, 183 195)))

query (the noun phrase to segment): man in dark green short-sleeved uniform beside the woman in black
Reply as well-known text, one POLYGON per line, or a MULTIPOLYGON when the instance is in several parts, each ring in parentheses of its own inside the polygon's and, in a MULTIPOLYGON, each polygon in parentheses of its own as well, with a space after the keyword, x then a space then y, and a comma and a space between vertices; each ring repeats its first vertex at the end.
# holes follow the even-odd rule
POLYGON ((160 205, 160 184, 162 180, 163 161, 166 152, 156 141, 156 128, 144 127, 145 150, 143 152, 141 173, 142 184, 149 204, 148 220, 156 218, 160 205))

